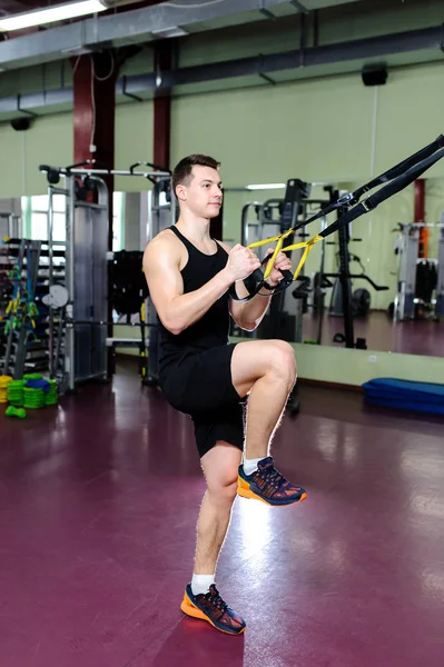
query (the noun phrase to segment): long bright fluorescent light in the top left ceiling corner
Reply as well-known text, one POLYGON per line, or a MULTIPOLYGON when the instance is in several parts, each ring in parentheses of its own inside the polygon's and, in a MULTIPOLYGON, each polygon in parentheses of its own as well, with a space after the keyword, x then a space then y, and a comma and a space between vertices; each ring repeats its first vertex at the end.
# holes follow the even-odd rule
POLYGON ((26 11, 19 14, 12 14, 6 19, 0 19, 0 32, 10 30, 22 30, 32 26, 46 26, 53 21, 63 21, 76 17, 103 11, 107 8, 100 0, 79 0, 78 2, 67 2, 66 4, 55 4, 46 9, 26 11))

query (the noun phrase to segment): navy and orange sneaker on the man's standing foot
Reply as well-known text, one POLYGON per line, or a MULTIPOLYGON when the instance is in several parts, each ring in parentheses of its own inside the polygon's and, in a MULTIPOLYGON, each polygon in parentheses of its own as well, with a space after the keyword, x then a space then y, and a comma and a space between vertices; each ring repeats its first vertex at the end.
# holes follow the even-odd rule
POLYGON ((246 628, 245 620, 224 603, 214 584, 208 593, 200 595, 193 595, 191 585, 188 584, 180 609, 187 616, 207 620, 217 630, 228 635, 240 635, 246 628))

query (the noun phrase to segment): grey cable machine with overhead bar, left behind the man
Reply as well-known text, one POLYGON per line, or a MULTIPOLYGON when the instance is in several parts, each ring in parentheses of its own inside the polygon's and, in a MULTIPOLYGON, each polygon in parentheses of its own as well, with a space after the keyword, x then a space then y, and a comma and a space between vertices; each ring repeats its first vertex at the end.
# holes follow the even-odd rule
MULTIPOLYGON (((60 381, 61 390, 75 390, 85 380, 108 378, 107 348, 139 347, 146 361, 142 377, 156 376, 151 370, 150 351, 146 330, 156 331, 151 305, 145 302, 145 318, 140 327, 141 339, 116 338, 109 319, 108 307, 108 261, 114 253, 108 251, 109 192, 105 176, 142 177, 152 183, 152 202, 148 207, 151 235, 160 231, 161 225, 175 221, 175 203, 169 202, 157 210, 160 193, 168 195, 171 175, 156 165, 136 162, 128 170, 99 169, 93 162, 82 162, 71 167, 40 166, 48 179, 48 296, 43 300, 48 307, 49 322, 49 372, 60 381), (148 169, 140 169, 140 168, 148 169), (139 169, 138 169, 139 168, 139 169), (62 186, 59 186, 62 180, 62 186), (66 241, 53 240, 53 197, 65 197, 66 241), (168 213, 165 215, 166 209, 168 213)), ((160 207, 159 207, 160 208, 160 207)), ((141 270, 141 266, 140 266, 141 270)), ((150 336, 150 346, 154 345, 150 336)))

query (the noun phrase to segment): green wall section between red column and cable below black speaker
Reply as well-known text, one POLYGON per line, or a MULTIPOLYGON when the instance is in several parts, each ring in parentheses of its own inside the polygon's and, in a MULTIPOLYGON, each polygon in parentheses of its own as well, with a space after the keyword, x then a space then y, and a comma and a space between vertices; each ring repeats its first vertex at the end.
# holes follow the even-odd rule
POLYGON ((368 172, 372 112, 373 91, 352 76, 184 97, 172 106, 172 161, 214 155, 229 187, 288 173, 353 180, 368 172))

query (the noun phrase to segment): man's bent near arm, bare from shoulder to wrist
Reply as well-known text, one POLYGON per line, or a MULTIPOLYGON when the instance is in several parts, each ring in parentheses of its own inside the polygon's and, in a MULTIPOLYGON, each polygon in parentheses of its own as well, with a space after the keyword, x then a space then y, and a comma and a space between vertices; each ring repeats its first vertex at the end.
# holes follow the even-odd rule
POLYGON ((144 271, 149 295, 162 325, 175 335, 199 320, 234 282, 231 271, 225 267, 200 289, 184 295, 179 266, 180 250, 175 239, 158 236, 148 243, 144 271))

